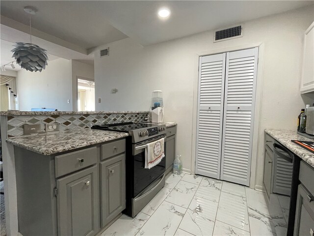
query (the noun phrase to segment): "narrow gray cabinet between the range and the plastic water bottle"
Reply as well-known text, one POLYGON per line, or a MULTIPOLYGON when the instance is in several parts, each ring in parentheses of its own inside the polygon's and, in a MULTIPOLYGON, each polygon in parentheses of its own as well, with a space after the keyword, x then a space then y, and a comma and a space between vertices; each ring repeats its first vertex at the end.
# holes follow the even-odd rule
POLYGON ((172 171, 173 161, 175 160, 176 132, 177 132, 177 126, 167 128, 166 146, 165 146, 165 157, 166 157, 165 174, 168 174, 170 171, 172 171))

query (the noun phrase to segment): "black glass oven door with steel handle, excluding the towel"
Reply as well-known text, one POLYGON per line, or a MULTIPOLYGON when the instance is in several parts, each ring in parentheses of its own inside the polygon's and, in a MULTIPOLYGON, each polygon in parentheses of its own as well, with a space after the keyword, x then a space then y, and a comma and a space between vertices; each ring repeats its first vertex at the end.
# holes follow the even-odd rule
MULTIPOLYGON (((166 139, 166 135, 160 135, 155 138, 132 145, 132 159, 133 159, 133 198, 140 194, 147 186, 154 182, 158 177, 164 174, 166 169, 166 157, 151 169, 145 169, 145 146, 149 143, 155 142, 161 138, 166 139)), ((166 141, 166 140, 165 140, 166 141)), ((165 145, 164 145, 165 148, 165 145)))

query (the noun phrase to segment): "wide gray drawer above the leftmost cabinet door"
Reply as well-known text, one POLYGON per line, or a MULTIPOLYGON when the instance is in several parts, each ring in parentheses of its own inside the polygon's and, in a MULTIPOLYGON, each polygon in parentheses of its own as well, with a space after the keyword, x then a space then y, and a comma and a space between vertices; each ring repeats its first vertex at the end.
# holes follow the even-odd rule
POLYGON ((97 148, 86 148, 79 151, 54 157, 55 177, 91 166, 97 162, 97 148))

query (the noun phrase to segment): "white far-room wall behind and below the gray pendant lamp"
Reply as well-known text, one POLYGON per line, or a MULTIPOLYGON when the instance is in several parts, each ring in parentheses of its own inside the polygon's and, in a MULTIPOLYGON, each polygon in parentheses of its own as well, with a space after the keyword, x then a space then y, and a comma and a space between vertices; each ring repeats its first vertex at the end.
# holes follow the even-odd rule
POLYGON ((19 70, 16 84, 21 111, 42 107, 72 111, 71 60, 48 61, 42 72, 19 70))

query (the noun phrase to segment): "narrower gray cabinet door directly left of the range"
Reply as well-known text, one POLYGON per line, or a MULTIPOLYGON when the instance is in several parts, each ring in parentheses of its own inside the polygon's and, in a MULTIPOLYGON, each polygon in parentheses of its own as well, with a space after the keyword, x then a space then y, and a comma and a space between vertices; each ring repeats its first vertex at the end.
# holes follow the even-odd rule
POLYGON ((126 208, 126 156, 113 157, 101 165, 102 227, 126 208))

